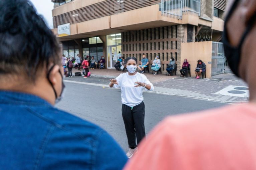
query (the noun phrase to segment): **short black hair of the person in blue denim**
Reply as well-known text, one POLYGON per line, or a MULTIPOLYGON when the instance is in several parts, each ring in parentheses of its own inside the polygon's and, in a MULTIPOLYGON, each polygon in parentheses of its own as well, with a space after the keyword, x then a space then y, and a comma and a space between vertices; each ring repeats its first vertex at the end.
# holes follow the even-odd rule
POLYGON ((60 63, 59 54, 56 36, 29 0, 0 1, 0 75, 35 81, 39 68, 60 63))

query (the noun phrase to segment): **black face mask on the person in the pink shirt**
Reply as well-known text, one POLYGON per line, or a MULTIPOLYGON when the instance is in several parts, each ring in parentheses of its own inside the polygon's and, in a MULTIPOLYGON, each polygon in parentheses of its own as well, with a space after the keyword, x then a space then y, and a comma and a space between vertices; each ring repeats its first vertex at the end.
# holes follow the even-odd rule
POLYGON ((239 75, 239 64, 240 64, 240 60, 241 60, 241 52, 242 52, 242 46, 243 43, 247 37, 247 35, 249 34, 249 32, 251 31, 251 29, 254 26, 254 22, 256 20, 256 13, 250 18, 248 25, 245 29, 245 32, 239 42, 238 47, 233 47, 232 45, 230 45, 229 40, 228 40, 228 34, 227 34, 227 22, 229 21, 229 19, 231 18, 233 12, 235 11, 235 9, 237 8, 238 4, 239 4, 240 0, 236 0, 233 4, 233 6, 231 7, 226 20, 225 20, 225 24, 224 24, 224 31, 223 31, 223 46, 224 46, 224 51, 225 51, 225 56, 227 58, 228 64, 230 69, 233 71, 233 73, 237 76, 240 77, 239 75))

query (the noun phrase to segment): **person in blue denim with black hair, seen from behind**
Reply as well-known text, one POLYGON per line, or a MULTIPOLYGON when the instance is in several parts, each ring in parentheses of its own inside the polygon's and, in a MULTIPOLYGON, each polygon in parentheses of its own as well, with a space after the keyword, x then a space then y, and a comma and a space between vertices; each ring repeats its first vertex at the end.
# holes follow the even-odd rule
POLYGON ((0 16, 0 169, 122 169, 106 131, 54 106, 61 49, 31 1, 1 0, 0 16))

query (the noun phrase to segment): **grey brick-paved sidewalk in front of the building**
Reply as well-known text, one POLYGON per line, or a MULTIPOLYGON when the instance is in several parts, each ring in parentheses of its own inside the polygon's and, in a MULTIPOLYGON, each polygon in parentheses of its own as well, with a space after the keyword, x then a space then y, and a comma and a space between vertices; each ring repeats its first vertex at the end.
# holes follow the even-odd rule
MULTIPOLYGON (((73 73, 76 70, 73 71, 73 73)), ((115 78, 122 71, 110 70, 110 69, 93 69, 91 70, 92 77, 105 78, 103 83, 107 84, 107 78, 115 78)), ((216 94, 220 90, 225 91, 225 88, 230 86, 243 86, 246 87, 247 84, 241 79, 238 79, 233 74, 220 74, 213 76, 211 79, 198 79, 194 77, 181 78, 179 76, 166 76, 165 74, 152 75, 152 73, 145 73, 148 79, 154 84, 155 92, 166 95, 176 95, 189 98, 197 98, 202 100, 211 100, 218 102, 227 102, 227 103, 240 103, 247 102, 248 97, 238 97, 229 95, 227 93, 216 94)), ((90 82, 90 78, 84 79, 84 82, 90 82)), ((240 91, 241 92, 241 91, 240 91)), ((200 103, 199 103, 200 104, 200 103)))

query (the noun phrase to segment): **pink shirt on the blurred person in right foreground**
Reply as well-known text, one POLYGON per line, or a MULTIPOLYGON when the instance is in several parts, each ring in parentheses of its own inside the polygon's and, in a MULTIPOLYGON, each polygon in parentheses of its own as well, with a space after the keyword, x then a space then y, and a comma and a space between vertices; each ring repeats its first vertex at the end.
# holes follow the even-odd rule
POLYGON ((125 170, 256 170, 256 105, 169 117, 125 170))

